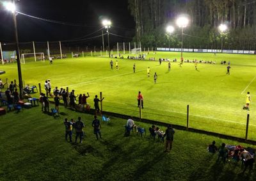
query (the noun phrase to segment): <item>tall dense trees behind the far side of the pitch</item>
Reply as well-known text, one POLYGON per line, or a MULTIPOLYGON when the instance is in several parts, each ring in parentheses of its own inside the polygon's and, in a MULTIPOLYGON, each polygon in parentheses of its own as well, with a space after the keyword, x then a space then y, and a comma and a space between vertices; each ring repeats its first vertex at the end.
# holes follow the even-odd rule
POLYGON ((256 49, 255 0, 128 0, 136 22, 134 41, 145 47, 179 47, 181 31, 166 33, 166 26, 175 26, 181 13, 189 15, 184 29, 184 47, 221 49, 256 49), (228 31, 221 34, 218 26, 225 23, 228 31))

